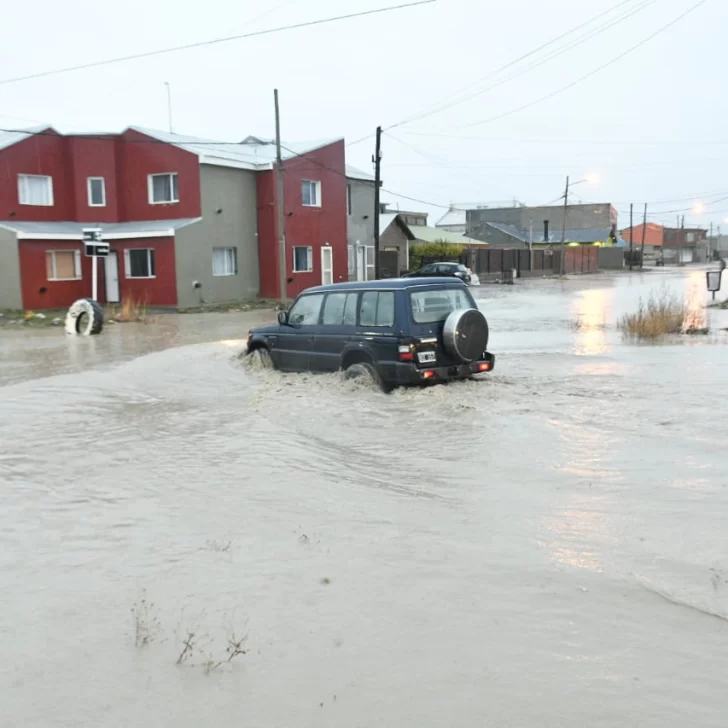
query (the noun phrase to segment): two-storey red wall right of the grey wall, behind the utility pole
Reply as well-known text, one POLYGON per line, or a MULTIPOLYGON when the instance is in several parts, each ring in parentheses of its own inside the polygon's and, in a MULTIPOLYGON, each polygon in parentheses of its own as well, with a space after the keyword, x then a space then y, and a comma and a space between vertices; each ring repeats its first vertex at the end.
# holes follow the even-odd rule
MULTIPOLYGON (((329 243, 334 256, 334 282, 348 279, 346 243, 346 162, 344 142, 307 152, 284 162, 284 201, 286 212, 286 271, 288 296, 293 298, 310 286, 321 284, 321 248, 329 243), (321 207, 301 204, 301 182, 321 182, 321 207), (313 271, 293 272, 293 247, 313 248, 313 271)), ((260 255, 260 295, 277 298, 278 255, 275 225, 275 173, 258 175, 258 249, 260 255), (271 213, 268 211, 272 210, 271 213)))

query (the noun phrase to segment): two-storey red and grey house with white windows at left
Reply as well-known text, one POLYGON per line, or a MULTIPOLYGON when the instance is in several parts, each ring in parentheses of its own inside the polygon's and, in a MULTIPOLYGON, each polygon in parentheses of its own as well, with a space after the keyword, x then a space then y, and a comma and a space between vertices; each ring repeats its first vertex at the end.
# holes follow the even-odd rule
MULTIPOLYGON (((347 277, 343 140, 284 145, 287 295, 347 277)), ((110 255, 98 299, 150 306, 277 298, 275 145, 129 128, 0 134, 0 308, 91 296, 83 229, 110 255)))

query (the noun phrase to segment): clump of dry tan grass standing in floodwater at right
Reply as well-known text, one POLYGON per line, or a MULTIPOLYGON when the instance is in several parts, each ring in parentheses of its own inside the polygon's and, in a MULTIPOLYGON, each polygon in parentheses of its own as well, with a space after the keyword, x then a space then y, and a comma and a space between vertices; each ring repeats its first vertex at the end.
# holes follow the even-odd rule
POLYGON ((659 339, 670 334, 703 332, 704 320, 682 296, 663 289, 640 298, 637 311, 623 316, 618 328, 638 339, 659 339))

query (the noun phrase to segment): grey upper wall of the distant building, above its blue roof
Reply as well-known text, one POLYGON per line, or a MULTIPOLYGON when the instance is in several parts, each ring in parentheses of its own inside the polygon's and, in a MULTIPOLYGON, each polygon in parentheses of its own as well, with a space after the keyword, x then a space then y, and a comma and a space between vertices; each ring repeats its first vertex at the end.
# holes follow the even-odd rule
MULTIPOLYGON (((569 205, 568 227, 597 228, 610 227, 610 207, 607 203, 595 205, 569 205)), ((500 222, 527 231, 533 220, 534 236, 543 233, 543 221, 549 221, 549 232, 558 233, 564 224, 564 208, 559 205, 547 207, 487 207, 467 211, 468 236, 477 238, 478 228, 483 222, 500 222)))

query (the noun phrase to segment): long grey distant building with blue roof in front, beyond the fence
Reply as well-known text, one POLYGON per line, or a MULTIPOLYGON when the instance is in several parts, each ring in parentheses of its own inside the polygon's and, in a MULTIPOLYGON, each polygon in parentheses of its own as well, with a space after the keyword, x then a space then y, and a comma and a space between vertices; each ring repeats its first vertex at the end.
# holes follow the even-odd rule
POLYGON ((493 247, 533 245, 621 245, 618 213, 609 203, 568 205, 564 234, 564 206, 488 207, 466 212, 467 235, 493 247))

